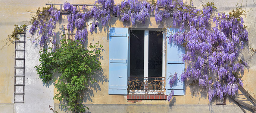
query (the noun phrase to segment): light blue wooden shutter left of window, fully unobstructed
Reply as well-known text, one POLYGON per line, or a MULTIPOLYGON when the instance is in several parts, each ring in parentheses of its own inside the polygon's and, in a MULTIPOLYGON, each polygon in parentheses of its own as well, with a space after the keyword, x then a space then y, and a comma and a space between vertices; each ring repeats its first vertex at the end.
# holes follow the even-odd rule
POLYGON ((128 28, 110 28, 108 94, 127 94, 128 28))

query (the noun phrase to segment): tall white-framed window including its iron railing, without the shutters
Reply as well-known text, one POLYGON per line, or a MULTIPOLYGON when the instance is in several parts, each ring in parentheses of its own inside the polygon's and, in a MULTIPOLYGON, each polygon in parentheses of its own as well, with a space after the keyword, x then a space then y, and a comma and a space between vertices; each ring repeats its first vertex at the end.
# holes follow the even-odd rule
POLYGON ((129 30, 128 93, 164 94, 163 31, 129 30))

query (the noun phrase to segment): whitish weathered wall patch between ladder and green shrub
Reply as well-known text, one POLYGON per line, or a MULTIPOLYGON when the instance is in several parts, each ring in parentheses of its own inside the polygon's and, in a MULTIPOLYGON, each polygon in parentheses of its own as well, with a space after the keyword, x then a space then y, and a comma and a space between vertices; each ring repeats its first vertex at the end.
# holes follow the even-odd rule
MULTIPOLYGON (((30 28, 31 25, 28 26, 30 28)), ((24 103, 15 103, 15 113, 28 112, 51 112, 49 105, 53 106, 54 85, 42 83, 36 74, 36 65, 39 65, 39 45, 32 43, 31 34, 26 32, 26 55, 25 55, 25 95, 24 103)))

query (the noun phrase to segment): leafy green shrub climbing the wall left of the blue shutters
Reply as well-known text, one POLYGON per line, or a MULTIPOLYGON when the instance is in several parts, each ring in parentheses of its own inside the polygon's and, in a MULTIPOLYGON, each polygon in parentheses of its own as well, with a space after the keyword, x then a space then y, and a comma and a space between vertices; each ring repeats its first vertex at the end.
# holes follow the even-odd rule
POLYGON ((87 89, 88 82, 94 83, 96 71, 101 70, 98 57, 103 46, 96 43, 87 50, 79 40, 61 40, 61 47, 52 51, 52 48, 40 51, 40 65, 35 68, 43 82, 51 80, 53 72, 58 71, 60 76, 54 79, 57 94, 54 99, 61 102, 64 107, 73 113, 85 112, 83 106, 83 92, 87 89), (58 80, 57 80, 58 79, 58 80))

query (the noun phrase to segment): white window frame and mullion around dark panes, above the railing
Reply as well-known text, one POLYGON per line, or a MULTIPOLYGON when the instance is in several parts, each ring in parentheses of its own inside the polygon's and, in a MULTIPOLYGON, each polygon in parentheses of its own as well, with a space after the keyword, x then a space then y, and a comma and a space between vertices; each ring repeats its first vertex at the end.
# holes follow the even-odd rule
MULTIPOLYGON (((148 31, 149 30, 161 30, 157 28, 129 28, 128 31, 128 77, 130 77, 130 32, 131 30, 144 30, 144 77, 148 77, 148 31)), ((161 30, 163 31, 163 30, 161 30)), ((166 38, 165 33, 163 31, 163 39, 162 39, 162 77, 165 77, 166 82, 166 38)))

